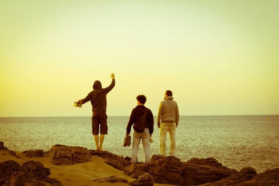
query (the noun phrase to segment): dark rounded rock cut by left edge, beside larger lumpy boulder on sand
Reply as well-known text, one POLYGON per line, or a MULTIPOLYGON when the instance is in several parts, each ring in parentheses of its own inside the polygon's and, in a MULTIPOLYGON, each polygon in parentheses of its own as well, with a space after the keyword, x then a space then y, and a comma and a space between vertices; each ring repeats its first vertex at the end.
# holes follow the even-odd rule
POLYGON ((0 179, 12 176, 12 174, 20 170, 20 164, 14 160, 0 162, 0 179))

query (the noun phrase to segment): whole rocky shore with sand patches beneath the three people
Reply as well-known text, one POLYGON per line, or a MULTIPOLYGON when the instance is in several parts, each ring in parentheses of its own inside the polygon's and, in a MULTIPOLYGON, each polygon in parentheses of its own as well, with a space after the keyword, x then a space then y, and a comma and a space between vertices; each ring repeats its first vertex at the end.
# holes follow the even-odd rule
POLYGON ((0 142, 0 185, 279 185, 279 168, 257 174, 252 167, 241 171, 223 166, 214 158, 192 158, 187 162, 173 156, 153 155, 150 163, 134 166, 130 157, 108 151, 54 145, 49 151, 9 150, 0 142))

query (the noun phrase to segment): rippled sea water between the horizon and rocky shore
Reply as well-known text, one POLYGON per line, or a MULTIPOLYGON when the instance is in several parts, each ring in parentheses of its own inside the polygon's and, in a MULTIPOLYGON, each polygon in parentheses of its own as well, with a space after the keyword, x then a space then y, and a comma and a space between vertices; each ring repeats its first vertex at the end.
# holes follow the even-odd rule
MULTIPOLYGON (((123 147, 128 119, 128 116, 108 116, 108 135, 105 136, 103 150, 124 157, 131 156, 132 145, 123 147)), ((279 167, 278 131, 279 115, 180 116, 176 130, 176 155, 182 161, 194 157, 213 157, 226 167, 239 171, 250 166, 259 173, 279 167)), ((156 123, 153 140, 151 155, 159 154, 159 129, 156 123)), ((95 149, 91 117, 2 117, 0 141, 16 151, 47 151, 54 144, 95 149)), ((138 158, 144 161, 142 144, 138 158)))

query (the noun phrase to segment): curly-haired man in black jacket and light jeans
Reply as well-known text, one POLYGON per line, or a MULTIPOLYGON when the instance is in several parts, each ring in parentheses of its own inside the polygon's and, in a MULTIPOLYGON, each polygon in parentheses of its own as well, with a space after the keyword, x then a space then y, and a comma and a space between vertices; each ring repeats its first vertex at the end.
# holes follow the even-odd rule
POLYGON ((147 109, 146 113, 146 124, 144 131, 142 133, 138 133, 134 130, 133 134, 133 150, 132 150, 132 158, 131 162, 137 162, 137 152, 139 150, 140 140, 142 140, 142 145, 145 154, 145 162, 150 162, 150 144, 149 137, 153 134, 153 125, 154 118, 151 110, 144 106, 146 102, 146 97, 144 95, 137 96, 137 106, 133 108, 132 113, 130 115, 130 119, 126 128, 126 135, 130 135, 132 125, 144 114, 144 111, 147 109))

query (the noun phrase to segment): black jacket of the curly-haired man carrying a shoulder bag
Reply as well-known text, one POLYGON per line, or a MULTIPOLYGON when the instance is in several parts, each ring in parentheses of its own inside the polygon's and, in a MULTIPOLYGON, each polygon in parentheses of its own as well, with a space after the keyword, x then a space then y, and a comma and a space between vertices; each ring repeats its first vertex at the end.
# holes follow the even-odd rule
POLYGON ((145 109, 147 109, 145 127, 149 129, 149 134, 153 134, 153 114, 151 110, 149 108, 146 108, 144 105, 137 105, 135 108, 133 108, 126 128, 127 133, 131 132, 132 125, 143 115, 145 109))

